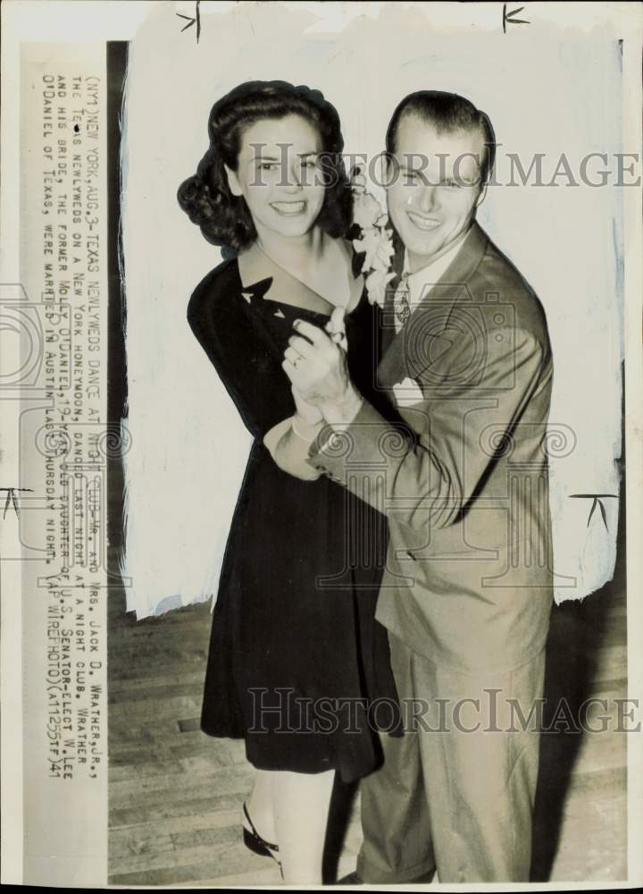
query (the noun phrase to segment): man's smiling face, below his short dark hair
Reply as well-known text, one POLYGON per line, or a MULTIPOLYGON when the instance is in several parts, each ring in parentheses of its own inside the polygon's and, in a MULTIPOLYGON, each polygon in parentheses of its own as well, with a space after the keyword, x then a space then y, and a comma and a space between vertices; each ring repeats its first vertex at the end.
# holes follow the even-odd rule
POLYGON ((397 128, 389 163, 388 214, 408 252, 411 272, 444 254, 468 230, 484 196, 479 130, 439 133, 410 113, 397 128))

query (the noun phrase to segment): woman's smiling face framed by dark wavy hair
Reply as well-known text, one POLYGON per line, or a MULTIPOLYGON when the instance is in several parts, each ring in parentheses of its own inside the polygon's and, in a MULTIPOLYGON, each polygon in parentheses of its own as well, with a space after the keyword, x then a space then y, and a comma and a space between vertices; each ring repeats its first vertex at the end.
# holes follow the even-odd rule
POLYGON ((243 196, 256 231, 302 236, 314 225, 325 187, 321 137, 305 118, 290 114, 255 122, 244 131, 237 170, 226 166, 230 190, 243 196))

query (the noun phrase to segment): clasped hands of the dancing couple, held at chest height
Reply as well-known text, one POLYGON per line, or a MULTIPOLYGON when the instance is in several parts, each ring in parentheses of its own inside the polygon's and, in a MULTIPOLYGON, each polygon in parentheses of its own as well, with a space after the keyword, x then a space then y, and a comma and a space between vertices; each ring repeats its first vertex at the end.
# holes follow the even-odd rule
POLYGON ((335 308, 326 325, 329 334, 296 320, 296 334, 288 339, 281 366, 292 383, 297 412, 309 424, 351 422, 362 403, 348 374, 344 312, 335 308))

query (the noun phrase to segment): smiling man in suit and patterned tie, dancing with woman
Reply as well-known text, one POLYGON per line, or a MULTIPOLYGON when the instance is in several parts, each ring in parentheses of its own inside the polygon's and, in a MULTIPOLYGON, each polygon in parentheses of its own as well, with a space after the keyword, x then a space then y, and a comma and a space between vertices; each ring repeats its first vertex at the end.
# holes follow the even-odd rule
POLYGON ((487 116, 448 93, 406 97, 388 128, 404 273, 378 381, 404 424, 363 401, 312 325, 296 326, 284 361, 327 424, 309 463, 389 520, 377 617, 406 723, 363 780, 357 870, 371 883, 434 868, 442 882, 529 879, 552 358, 539 300, 475 222, 494 148, 487 116))

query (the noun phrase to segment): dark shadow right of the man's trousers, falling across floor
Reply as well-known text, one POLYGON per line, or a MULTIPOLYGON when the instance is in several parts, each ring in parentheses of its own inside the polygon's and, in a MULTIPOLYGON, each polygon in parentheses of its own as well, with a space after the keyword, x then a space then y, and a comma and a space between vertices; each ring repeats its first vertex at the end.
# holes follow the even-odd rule
MULTIPOLYGON (((624 487, 622 489, 624 495, 624 487)), ((609 635, 614 600, 625 593, 625 503, 619 512, 614 578, 582 602, 555 605, 547 637, 544 732, 540 738, 539 782, 533 826, 531 881, 547 881, 560 839, 564 803, 580 748, 573 731, 579 708, 597 682, 599 649, 609 635), (557 725, 556 725, 556 721, 557 725)))

